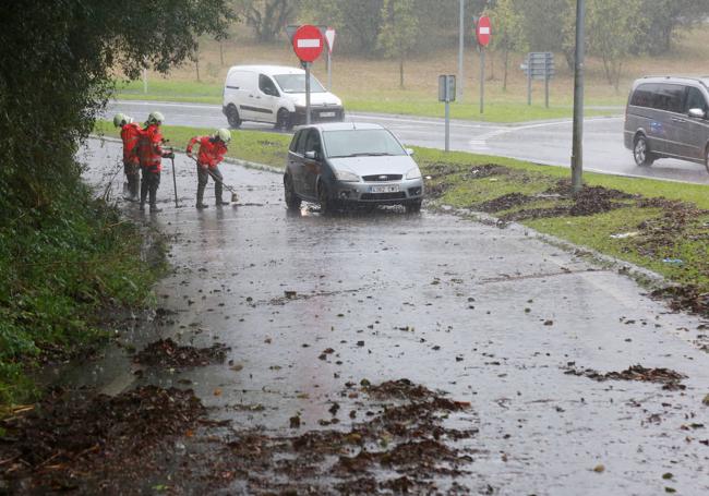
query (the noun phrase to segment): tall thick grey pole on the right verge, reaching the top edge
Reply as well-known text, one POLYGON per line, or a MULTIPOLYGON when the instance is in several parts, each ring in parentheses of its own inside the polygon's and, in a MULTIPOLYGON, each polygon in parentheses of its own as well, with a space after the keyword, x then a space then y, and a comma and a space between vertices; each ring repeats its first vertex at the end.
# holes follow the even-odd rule
POLYGON ((586 2, 576 0, 576 63, 574 70, 574 144, 572 146, 572 191, 584 186, 584 41, 586 2))

